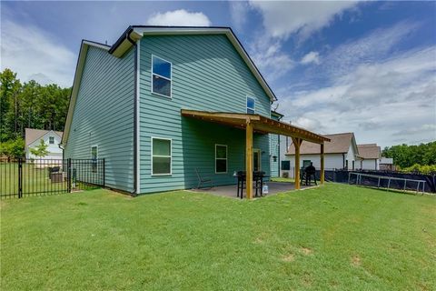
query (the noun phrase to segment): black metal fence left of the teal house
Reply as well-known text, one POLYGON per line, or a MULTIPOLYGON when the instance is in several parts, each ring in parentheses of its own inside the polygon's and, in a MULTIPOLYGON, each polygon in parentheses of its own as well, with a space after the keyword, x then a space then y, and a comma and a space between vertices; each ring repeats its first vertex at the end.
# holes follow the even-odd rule
POLYGON ((0 198, 46 196, 104 187, 104 159, 0 161, 0 198))

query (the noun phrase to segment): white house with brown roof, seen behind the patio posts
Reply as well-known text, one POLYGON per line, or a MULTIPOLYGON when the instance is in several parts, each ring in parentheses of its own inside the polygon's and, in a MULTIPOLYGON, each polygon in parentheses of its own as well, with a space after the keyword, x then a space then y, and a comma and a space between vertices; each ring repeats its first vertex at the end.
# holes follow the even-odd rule
MULTIPOLYGON (((359 151, 353 133, 324 135, 330 138, 330 143, 325 144, 324 165, 326 169, 355 169, 359 151)), ((291 171, 292 176, 295 147, 292 140, 288 140, 288 151, 282 161, 282 172, 291 171)), ((311 162, 316 168, 321 166, 321 146, 309 142, 302 142, 300 148, 300 166, 309 166, 311 162)))

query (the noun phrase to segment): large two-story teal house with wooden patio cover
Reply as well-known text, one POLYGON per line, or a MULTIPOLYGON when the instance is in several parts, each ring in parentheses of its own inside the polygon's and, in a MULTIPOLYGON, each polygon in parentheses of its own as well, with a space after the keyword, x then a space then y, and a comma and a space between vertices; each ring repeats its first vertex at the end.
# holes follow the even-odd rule
POLYGON ((70 100, 65 158, 105 158, 105 185, 133 194, 195 187, 196 169, 215 186, 250 168, 276 175, 270 134, 328 141, 274 120, 276 97, 228 27, 129 26, 112 46, 83 41, 70 100))

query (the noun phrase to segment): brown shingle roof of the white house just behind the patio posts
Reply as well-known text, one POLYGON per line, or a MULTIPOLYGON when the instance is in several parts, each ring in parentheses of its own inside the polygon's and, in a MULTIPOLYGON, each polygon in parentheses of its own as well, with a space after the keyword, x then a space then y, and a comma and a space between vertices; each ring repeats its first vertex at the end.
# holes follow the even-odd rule
MULTIPOLYGON (((357 147, 355 146, 355 138, 353 133, 343 133, 334 135, 323 135, 330 138, 330 143, 324 144, 324 154, 344 154, 348 153, 350 146, 354 146, 355 153, 357 154, 357 147)), ((321 147, 318 144, 302 142, 300 146, 300 155, 321 154, 321 147)), ((291 144, 285 155, 295 155, 295 147, 291 144)))

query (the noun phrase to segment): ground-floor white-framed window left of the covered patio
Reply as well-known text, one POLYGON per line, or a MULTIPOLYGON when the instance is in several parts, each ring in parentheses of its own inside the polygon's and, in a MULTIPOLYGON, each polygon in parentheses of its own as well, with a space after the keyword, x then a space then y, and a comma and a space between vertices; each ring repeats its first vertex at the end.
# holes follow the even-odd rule
POLYGON ((152 175, 172 175, 171 138, 152 137, 152 175))

